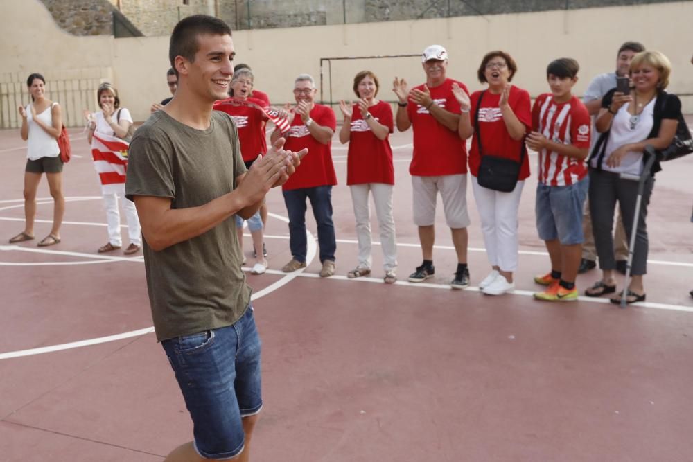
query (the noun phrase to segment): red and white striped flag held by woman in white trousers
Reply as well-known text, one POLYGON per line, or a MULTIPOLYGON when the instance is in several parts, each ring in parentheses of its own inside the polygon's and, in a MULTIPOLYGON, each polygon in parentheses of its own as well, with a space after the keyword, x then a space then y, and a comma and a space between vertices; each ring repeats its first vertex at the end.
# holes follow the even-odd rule
POLYGON ((122 190, 125 171, 128 170, 128 142, 107 134, 94 134, 91 138, 91 158, 101 180, 103 193, 122 190))

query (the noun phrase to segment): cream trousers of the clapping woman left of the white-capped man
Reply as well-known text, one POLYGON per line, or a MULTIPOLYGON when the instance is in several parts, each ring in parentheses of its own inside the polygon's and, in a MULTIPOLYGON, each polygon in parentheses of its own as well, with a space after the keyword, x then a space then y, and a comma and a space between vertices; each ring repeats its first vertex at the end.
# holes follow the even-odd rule
POLYGON ((354 184, 351 188, 353 214, 356 217, 356 236, 358 238, 358 267, 371 268, 371 209, 368 193, 373 194, 378 216, 380 246, 383 247, 383 268, 385 272, 397 267, 397 242, 392 217, 392 184, 366 183, 354 184))

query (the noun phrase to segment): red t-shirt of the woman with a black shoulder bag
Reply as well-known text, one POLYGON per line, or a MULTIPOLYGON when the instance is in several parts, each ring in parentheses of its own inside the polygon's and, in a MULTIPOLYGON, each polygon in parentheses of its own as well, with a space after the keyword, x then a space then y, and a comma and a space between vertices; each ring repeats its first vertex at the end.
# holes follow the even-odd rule
MULTIPOLYGON (((475 91, 471 96, 471 116, 472 127, 474 126, 474 118, 476 108, 479 102, 481 91, 475 91)), ((483 154, 489 156, 506 157, 520 161, 520 150, 523 149, 523 140, 514 140, 508 134, 503 121, 503 114, 500 112, 500 93, 494 95, 491 91, 486 90, 484 98, 481 100, 479 108, 479 132, 481 135, 481 145, 483 154)), ((515 85, 510 87, 510 95, 508 103, 515 113, 518 120, 525 124, 526 132, 532 130, 532 103, 529 102, 529 93, 526 90, 520 89, 515 85)), ((469 171, 475 177, 479 175, 479 146, 477 143, 477 134, 472 135, 472 147, 469 150, 469 171)), ((520 179, 529 177, 529 159, 527 152, 520 168, 520 179)))

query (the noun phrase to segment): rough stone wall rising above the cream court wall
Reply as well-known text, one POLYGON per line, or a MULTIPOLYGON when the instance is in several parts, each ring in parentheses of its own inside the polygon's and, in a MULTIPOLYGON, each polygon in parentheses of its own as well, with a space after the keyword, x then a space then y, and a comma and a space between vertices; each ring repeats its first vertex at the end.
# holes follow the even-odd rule
MULTIPOLYGON (((112 35, 122 14, 146 36, 169 35, 183 17, 219 17, 234 30, 575 10, 667 0, 42 0, 75 35, 112 35), (119 10, 117 9, 119 8, 119 10)), ((138 34, 133 34, 138 35, 138 34)), ((116 35, 117 36, 117 35, 116 35)))

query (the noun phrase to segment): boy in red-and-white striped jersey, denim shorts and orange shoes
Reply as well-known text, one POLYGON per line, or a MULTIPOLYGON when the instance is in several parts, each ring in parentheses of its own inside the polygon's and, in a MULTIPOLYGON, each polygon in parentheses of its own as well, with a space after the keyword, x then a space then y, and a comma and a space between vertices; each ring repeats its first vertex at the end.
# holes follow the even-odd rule
POLYGON ((527 146, 538 152, 536 228, 551 258, 551 272, 534 278, 547 286, 534 294, 538 300, 577 300, 591 125, 585 105, 571 93, 579 69, 577 61, 566 57, 547 66, 551 93, 536 98, 533 131, 527 136, 527 146))

